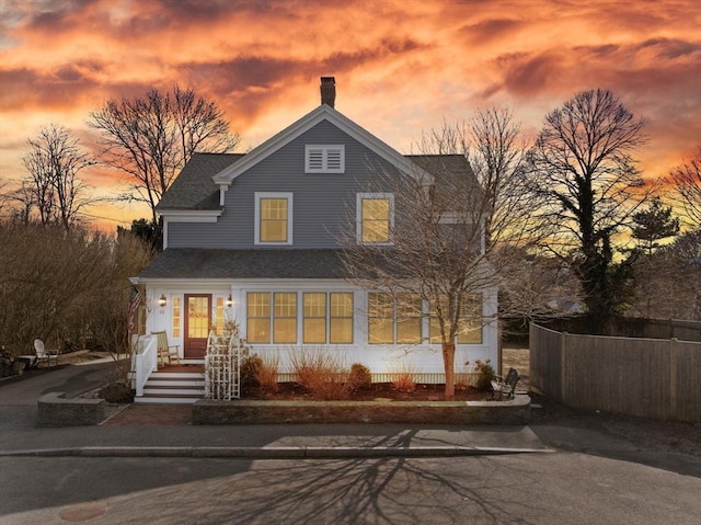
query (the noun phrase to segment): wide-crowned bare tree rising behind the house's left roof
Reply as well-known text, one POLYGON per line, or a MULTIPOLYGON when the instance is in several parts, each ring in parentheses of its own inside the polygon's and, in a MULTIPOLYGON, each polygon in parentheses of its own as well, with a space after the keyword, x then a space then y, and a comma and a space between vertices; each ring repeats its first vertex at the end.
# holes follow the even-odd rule
POLYGON ((142 98, 108 100, 88 125, 100 133, 102 161, 128 175, 125 198, 148 204, 153 224, 156 205, 195 151, 226 152, 239 144, 214 102, 177 85, 172 94, 151 89, 142 98))

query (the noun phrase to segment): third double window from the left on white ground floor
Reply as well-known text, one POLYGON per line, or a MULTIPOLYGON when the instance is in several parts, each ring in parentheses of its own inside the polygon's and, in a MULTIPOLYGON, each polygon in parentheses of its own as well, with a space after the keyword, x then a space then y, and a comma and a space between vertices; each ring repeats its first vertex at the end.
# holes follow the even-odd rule
POLYGON ((368 342, 416 344, 422 340, 422 300, 416 294, 368 294, 368 342))

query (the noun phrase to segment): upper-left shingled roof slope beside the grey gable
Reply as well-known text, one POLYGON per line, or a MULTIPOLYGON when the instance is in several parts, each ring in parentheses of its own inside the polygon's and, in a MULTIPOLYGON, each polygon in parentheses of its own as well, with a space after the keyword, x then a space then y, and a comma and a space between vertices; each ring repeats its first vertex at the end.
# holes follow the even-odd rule
POLYGON ((156 207, 161 209, 221 209, 212 175, 244 153, 194 153, 156 207))

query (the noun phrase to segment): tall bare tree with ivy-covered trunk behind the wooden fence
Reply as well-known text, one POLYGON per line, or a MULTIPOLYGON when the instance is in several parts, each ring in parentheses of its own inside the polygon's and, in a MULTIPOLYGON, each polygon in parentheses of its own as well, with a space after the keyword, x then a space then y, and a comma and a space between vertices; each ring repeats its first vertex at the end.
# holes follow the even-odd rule
POLYGON ((643 125, 610 91, 583 91, 547 115, 529 155, 549 247, 568 259, 597 322, 620 297, 611 273, 614 236, 646 198, 631 156, 646 141, 643 125))

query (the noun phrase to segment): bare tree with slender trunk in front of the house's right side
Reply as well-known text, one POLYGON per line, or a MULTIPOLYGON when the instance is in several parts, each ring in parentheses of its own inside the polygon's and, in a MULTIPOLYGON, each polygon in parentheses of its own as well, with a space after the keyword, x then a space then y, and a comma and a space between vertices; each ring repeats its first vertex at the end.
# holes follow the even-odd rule
MULTIPOLYGON (((415 167, 409 174, 375 170, 367 191, 392 195, 393 221, 357 231, 356 212, 348 209, 343 243, 352 281, 390 294, 404 317, 425 316, 423 305, 428 305, 428 336, 443 349, 448 398, 455 396, 456 341, 496 321, 496 311, 482 310, 482 299, 489 295, 495 306, 501 272, 517 253, 505 248, 522 246, 527 238, 528 220, 519 229, 505 213, 527 209, 518 191, 524 176, 518 130, 512 114, 499 110, 478 113, 467 127, 445 124, 424 135, 421 155, 409 157, 415 167)), ((384 315, 378 310, 388 305, 376 303, 369 304, 369 318, 384 315)))

